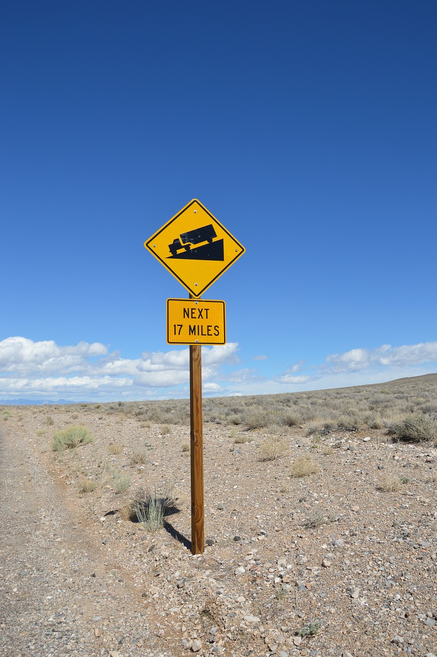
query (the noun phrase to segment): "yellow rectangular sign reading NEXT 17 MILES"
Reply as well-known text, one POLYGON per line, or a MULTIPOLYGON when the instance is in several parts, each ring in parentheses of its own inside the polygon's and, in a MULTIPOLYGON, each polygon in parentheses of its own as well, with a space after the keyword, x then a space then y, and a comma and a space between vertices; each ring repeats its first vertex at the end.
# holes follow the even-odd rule
POLYGON ((167 300, 168 344, 226 344, 225 302, 167 300))

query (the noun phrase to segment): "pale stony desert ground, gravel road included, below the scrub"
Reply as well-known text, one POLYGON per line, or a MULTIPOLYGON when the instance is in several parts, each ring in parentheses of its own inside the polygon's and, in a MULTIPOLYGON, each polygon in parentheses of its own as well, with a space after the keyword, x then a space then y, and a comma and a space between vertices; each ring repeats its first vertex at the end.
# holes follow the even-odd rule
POLYGON ((435 655, 436 448, 379 430, 303 434, 288 430, 287 451, 264 461, 265 433, 204 426, 210 545, 192 556, 186 426, 105 405, 12 408, 0 653, 435 655), (54 453, 71 424, 95 440, 54 453), (296 478, 302 455, 317 472, 296 478), (149 533, 129 504, 155 486, 172 486, 175 509, 149 533))

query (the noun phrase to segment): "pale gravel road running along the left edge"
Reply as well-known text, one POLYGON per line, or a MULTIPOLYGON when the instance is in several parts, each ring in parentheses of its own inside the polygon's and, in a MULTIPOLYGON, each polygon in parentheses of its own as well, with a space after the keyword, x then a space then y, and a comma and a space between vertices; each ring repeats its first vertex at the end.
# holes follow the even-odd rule
POLYGON ((0 429, 0 655, 172 655, 139 592, 108 568, 80 509, 12 428, 0 429), (132 652, 133 651, 133 652, 132 652))

